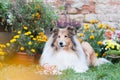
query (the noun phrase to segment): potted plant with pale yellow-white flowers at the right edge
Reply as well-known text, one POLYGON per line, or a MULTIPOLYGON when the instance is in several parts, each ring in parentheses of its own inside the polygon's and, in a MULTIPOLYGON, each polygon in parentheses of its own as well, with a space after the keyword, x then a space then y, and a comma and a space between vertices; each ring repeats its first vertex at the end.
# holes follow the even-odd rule
POLYGON ((113 63, 120 61, 120 44, 116 41, 105 40, 101 46, 101 51, 105 54, 105 57, 113 63))

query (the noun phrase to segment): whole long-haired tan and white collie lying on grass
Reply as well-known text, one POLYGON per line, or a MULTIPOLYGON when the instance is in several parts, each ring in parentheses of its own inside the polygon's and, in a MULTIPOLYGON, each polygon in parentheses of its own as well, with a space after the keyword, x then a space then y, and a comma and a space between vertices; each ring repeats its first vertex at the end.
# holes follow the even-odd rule
POLYGON ((86 72, 89 65, 108 62, 98 59, 87 42, 80 44, 73 28, 55 29, 43 49, 40 65, 56 65, 59 71, 72 68, 77 73, 86 72))

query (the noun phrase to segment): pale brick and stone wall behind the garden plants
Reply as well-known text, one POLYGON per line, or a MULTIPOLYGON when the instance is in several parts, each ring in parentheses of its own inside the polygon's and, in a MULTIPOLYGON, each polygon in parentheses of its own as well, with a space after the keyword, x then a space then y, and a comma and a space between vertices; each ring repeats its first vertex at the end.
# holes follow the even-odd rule
POLYGON ((44 0, 52 4, 61 18, 66 4, 67 17, 80 22, 98 19, 103 23, 120 29, 120 0, 44 0))

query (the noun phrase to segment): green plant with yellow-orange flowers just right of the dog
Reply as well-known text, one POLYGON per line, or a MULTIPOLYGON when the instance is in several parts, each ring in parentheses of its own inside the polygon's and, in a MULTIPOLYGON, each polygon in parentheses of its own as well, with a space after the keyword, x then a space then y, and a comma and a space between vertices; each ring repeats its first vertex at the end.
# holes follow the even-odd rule
POLYGON ((98 20, 91 20, 90 23, 85 23, 84 27, 81 27, 80 33, 78 33, 80 42, 87 41, 93 47, 98 57, 102 57, 101 46, 103 41, 107 39, 105 32, 110 30, 114 32, 114 28, 109 25, 105 25, 98 20))

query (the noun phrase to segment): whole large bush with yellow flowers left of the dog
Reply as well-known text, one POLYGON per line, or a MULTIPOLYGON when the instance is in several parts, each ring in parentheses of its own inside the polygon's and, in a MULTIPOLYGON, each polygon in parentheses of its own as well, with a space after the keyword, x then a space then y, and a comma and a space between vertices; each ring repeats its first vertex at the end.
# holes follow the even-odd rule
POLYGON ((14 0, 8 5, 9 8, 5 7, 3 11, 9 12, 12 16, 10 32, 13 38, 4 44, 5 51, 21 51, 30 55, 42 53, 47 41, 46 30, 56 27, 57 14, 53 8, 42 0, 14 0))

